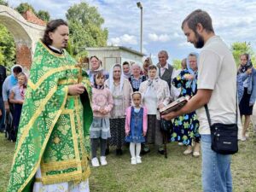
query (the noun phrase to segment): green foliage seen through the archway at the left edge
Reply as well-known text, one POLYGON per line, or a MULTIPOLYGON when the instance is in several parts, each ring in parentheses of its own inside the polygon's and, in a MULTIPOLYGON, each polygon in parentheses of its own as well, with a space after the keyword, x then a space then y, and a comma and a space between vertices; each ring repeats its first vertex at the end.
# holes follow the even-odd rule
POLYGON ((15 63, 15 40, 7 28, 0 24, 0 64, 10 68, 15 63))

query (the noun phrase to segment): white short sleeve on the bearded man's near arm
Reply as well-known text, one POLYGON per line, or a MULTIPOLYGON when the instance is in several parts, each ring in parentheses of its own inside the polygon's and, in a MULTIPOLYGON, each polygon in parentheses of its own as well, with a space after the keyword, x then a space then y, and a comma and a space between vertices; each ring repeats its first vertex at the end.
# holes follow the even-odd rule
POLYGON ((221 69, 221 58, 212 50, 201 51, 197 89, 214 90, 221 69))

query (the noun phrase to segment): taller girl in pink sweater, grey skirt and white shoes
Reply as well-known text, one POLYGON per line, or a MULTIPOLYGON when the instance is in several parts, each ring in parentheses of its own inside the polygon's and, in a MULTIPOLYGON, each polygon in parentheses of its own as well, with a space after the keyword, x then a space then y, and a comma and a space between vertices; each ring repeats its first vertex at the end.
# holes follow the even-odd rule
POLYGON ((105 150, 107 139, 110 136, 109 113, 113 108, 113 98, 110 90, 104 87, 105 77, 103 73, 96 73, 94 76, 94 87, 92 88, 92 110, 93 122, 90 126, 90 143, 91 143, 91 164, 100 166, 96 157, 96 149, 100 141, 101 145, 101 164, 108 165, 105 150))

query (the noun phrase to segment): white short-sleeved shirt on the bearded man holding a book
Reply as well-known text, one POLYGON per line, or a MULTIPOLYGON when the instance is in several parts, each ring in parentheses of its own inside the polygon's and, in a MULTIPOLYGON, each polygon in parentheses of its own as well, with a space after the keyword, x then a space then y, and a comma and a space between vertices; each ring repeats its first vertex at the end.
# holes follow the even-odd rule
MULTIPOLYGON (((236 123, 236 62, 218 36, 207 40, 200 54, 197 89, 212 90, 208 108, 214 123, 236 123)), ((196 111, 200 133, 210 134, 204 107, 196 111)))

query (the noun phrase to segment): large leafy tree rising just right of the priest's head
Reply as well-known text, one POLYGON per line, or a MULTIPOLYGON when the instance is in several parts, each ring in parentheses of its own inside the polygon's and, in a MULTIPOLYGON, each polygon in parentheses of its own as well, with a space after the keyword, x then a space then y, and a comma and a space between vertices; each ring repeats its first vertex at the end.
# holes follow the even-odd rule
POLYGON ((85 56, 85 47, 107 45, 108 29, 102 29, 104 19, 96 7, 90 7, 88 3, 74 4, 67 10, 66 16, 73 55, 85 56))

